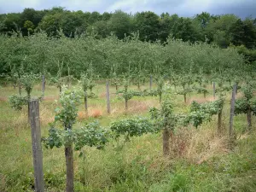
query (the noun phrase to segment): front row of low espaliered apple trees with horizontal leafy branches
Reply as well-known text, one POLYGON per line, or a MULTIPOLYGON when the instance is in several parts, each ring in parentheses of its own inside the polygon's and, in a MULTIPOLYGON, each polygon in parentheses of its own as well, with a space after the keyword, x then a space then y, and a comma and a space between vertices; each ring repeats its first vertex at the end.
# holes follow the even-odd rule
MULTIPOLYGON (((131 137, 139 137, 147 133, 158 133, 162 131, 163 154, 170 153, 170 138, 175 129, 181 126, 194 125, 198 128, 203 122, 210 121, 213 115, 218 115, 218 131, 221 133, 222 112, 224 108, 224 96, 219 96, 213 102, 192 102, 189 113, 175 113, 170 93, 172 89, 166 85, 163 88, 163 102, 160 108, 150 108, 151 118, 121 119, 112 122, 110 127, 102 127, 98 122, 92 122, 84 127, 74 128, 81 97, 84 91, 68 90, 62 87, 60 106, 55 109, 55 121, 50 124, 49 137, 44 138, 47 148, 60 148, 64 146, 67 165, 67 191, 73 191, 73 149, 80 150, 84 146, 96 147, 98 149, 111 142, 125 138, 128 142, 131 137), (61 128, 62 127, 62 128, 61 128)), ((253 86, 247 84, 242 89, 244 97, 236 101, 236 113, 255 112, 252 99, 253 86), (250 90, 250 91, 248 91, 250 90), (249 93, 248 93, 249 92, 249 93), (240 104, 243 101, 243 104, 240 104), (244 108, 247 103, 247 108, 244 108), (250 106, 250 107, 248 107, 250 106)))

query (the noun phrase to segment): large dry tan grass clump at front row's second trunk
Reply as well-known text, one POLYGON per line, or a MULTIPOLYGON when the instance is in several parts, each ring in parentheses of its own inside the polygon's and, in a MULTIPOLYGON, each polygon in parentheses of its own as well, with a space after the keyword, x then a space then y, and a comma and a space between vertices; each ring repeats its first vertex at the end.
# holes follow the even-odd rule
POLYGON ((214 129, 179 129, 171 139, 171 156, 185 158, 197 164, 216 154, 229 151, 227 137, 219 137, 214 129))

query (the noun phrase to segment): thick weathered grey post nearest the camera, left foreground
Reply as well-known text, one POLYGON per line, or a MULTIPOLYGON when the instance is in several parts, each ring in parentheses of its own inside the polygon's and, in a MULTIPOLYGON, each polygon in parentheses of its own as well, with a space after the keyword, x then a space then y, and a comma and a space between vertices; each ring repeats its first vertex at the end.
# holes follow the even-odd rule
POLYGON ((35 177, 35 191, 44 192, 43 152, 41 146, 41 130, 38 100, 30 100, 28 102, 28 108, 32 132, 32 155, 35 177))

